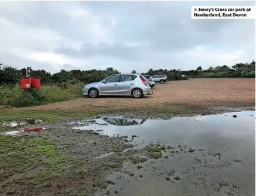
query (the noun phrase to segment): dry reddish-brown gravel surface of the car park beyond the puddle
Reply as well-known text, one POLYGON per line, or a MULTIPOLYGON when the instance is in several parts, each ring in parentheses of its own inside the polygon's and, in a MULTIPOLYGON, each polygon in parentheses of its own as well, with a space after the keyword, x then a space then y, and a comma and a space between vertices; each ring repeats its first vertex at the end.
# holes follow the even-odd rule
POLYGON ((157 84, 153 96, 142 99, 132 97, 80 98, 66 102, 20 109, 49 111, 88 111, 96 108, 145 108, 148 105, 188 106, 255 106, 255 78, 209 78, 169 81, 157 84))

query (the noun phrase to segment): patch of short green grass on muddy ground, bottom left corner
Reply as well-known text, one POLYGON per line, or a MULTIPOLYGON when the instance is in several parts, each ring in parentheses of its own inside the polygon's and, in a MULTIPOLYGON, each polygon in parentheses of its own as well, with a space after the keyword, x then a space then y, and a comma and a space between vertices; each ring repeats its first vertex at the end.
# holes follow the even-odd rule
POLYGON ((37 185, 59 176, 74 162, 44 136, 0 136, 0 146, 1 181, 12 177, 25 186, 37 185))

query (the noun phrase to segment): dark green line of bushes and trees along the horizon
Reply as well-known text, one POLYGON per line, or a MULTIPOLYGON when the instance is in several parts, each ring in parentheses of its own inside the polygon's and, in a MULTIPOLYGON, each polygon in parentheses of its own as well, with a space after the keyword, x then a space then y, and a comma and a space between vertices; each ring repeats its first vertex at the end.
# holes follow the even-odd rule
MULTIPOLYGON (((17 69, 11 66, 5 66, 0 63, 0 85, 1 84, 19 84, 22 76, 26 76, 27 68, 17 69)), ((31 69, 32 77, 41 78, 42 83, 52 84, 89 84, 92 82, 100 81, 109 75, 120 73, 116 69, 107 68, 105 70, 87 70, 81 71, 75 69, 66 71, 64 69, 60 72, 51 74, 50 72, 42 70, 31 69)), ((131 73, 136 73, 133 70, 131 73)), ((187 78, 255 78, 255 60, 251 63, 236 63, 236 65, 227 65, 209 67, 203 70, 199 66, 195 70, 181 71, 180 69, 150 69, 148 72, 142 73, 144 75, 167 75, 169 80, 182 79, 181 75, 185 75, 187 78)))

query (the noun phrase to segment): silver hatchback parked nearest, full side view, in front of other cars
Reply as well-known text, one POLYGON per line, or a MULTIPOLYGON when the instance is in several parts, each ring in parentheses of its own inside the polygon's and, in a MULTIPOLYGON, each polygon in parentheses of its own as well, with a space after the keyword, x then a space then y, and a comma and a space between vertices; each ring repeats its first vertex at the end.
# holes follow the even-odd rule
POLYGON ((83 94, 92 98, 99 96, 133 96, 141 98, 145 94, 153 94, 150 84, 141 74, 116 74, 100 82, 87 84, 83 94))

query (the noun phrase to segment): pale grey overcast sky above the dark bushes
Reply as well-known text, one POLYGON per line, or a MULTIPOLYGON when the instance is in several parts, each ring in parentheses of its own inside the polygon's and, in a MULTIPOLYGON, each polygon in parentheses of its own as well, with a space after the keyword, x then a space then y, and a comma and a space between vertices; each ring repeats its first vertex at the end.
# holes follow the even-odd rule
POLYGON ((255 2, 0 1, 0 63, 145 72, 255 60, 255 20, 191 20, 191 5, 255 2))

